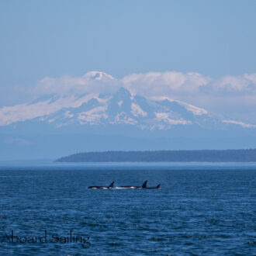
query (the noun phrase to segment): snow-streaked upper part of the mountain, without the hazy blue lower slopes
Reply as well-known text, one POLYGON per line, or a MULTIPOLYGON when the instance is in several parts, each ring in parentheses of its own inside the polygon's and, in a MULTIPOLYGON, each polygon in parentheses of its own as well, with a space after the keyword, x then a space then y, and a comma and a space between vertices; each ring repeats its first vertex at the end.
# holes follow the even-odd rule
MULTIPOLYGON (((114 79, 90 72, 86 79, 114 79)), ((230 120, 177 100, 150 100, 132 95, 126 88, 114 94, 44 95, 26 104, 0 109, 0 126, 31 119, 55 128, 62 126, 106 126, 126 124, 140 130, 171 130, 175 126, 198 126, 227 130, 230 126, 255 127, 230 120)))

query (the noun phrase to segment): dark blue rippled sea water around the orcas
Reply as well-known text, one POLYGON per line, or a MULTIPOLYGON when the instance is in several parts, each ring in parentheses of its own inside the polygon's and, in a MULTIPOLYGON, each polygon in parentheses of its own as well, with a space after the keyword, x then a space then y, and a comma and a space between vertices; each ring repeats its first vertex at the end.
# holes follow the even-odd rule
POLYGON ((0 239, 3 255, 255 255, 256 164, 2 162, 0 239), (87 189, 146 179, 161 189, 87 189))

